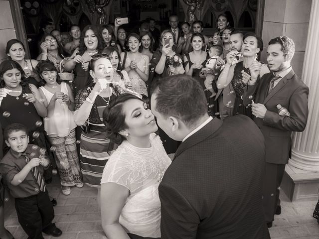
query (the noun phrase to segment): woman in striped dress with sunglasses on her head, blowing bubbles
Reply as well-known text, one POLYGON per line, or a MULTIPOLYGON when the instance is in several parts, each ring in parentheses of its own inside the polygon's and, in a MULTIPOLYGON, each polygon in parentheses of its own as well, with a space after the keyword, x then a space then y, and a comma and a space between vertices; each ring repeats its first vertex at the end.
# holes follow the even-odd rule
POLYGON ((124 91, 121 87, 110 84, 113 82, 114 70, 109 55, 92 55, 88 72, 93 79, 93 85, 83 88, 77 94, 74 120, 83 128, 80 143, 83 182, 100 188, 104 166, 114 149, 114 143, 107 138, 102 113, 110 101, 124 91))

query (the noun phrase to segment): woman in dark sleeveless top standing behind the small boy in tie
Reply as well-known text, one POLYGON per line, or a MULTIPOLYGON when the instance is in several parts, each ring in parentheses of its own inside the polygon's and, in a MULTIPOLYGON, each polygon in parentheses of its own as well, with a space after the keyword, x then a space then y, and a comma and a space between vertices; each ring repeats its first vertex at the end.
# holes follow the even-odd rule
MULTIPOLYGON (((12 60, 5 60, 0 64, 0 79, 2 130, 11 123, 22 123, 29 129, 30 143, 45 149, 51 164, 55 165, 42 121, 47 116, 47 110, 38 89, 26 81, 23 69, 12 60)), ((3 155, 7 150, 7 147, 3 148, 3 155)), ((52 167, 45 171, 44 178, 50 179, 51 173, 52 167)))

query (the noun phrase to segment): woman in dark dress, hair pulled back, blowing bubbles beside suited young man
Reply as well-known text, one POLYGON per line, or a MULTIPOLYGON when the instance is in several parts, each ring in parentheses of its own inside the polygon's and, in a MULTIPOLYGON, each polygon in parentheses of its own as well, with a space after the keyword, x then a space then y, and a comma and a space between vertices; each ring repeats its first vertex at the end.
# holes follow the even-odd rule
MULTIPOLYGON (((241 114, 253 119, 251 107, 245 107, 243 104, 243 94, 250 79, 249 67, 253 62, 257 61, 257 54, 259 54, 262 49, 262 39, 255 33, 248 32, 244 36, 241 48, 241 51, 243 52, 243 61, 240 61, 235 65, 231 65, 238 52, 231 51, 227 54, 227 64, 218 78, 217 87, 218 89, 223 89, 228 86, 228 84, 232 84, 236 94, 235 102, 229 102, 230 105, 234 106, 233 115, 241 114)), ((259 79, 268 72, 270 71, 267 65, 262 64, 259 79)))

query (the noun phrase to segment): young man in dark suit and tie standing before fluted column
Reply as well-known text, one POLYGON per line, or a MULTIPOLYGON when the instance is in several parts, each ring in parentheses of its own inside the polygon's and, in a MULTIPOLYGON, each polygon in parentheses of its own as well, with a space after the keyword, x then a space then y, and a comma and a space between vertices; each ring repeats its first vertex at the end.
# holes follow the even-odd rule
POLYGON ((270 40, 268 45, 267 62, 271 72, 256 84, 260 64, 252 64, 244 104, 252 103, 251 96, 255 96, 252 113, 265 137, 266 147, 263 206, 266 222, 271 227, 274 214, 281 213, 279 186, 289 160, 291 133, 306 127, 309 89, 291 67, 294 41, 280 36, 270 40), (278 105, 288 109, 290 116, 279 114, 278 105))

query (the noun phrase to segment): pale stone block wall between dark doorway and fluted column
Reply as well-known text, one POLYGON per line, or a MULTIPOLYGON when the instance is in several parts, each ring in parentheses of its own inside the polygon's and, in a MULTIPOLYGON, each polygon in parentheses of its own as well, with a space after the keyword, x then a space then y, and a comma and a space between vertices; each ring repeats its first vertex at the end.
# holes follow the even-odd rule
POLYGON ((286 35, 296 44, 292 66, 301 77, 304 63, 312 0, 265 0, 262 61, 266 62, 268 42, 286 35))

